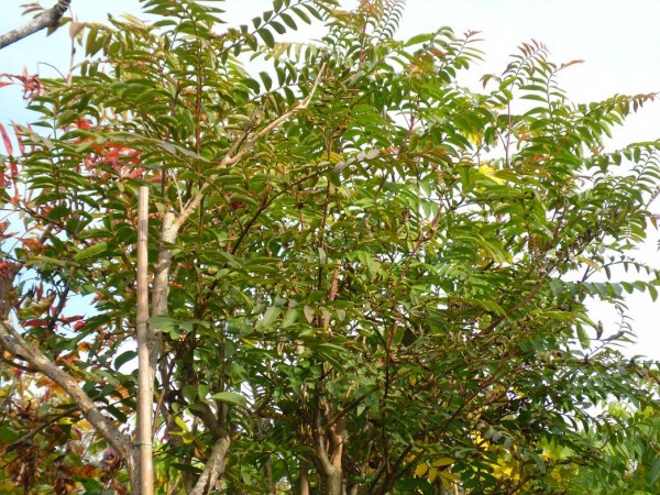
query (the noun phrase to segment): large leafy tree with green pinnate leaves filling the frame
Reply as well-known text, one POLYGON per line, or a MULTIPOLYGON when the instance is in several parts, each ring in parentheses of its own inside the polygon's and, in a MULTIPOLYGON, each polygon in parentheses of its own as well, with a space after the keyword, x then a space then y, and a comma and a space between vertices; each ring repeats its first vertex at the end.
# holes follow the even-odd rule
POLYGON ((603 145, 654 95, 574 105, 575 62, 536 42, 471 92, 475 33, 399 42, 400 1, 276 0, 224 32, 212 2, 142 3, 156 21, 85 28, 3 158, 4 360, 70 397, 118 483, 139 492, 139 186, 162 493, 557 493, 549 451, 598 462, 593 406, 657 408, 657 363, 585 307, 658 294, 632 257, 658 143, 603 145), (320 42, 276 37, 315 18, 320 42))

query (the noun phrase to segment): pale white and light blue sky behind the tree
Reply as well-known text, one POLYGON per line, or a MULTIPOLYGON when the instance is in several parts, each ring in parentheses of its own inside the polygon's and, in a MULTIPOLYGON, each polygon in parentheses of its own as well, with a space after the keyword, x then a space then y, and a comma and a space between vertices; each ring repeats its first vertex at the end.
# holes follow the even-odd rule
MULTIPOLYGON (((26 21, 20 6, 26 0, 0 0, 0 32, 7 32, 26 21)), ((54 0, 43 0, 50 7, 54 0)), ((559 86, 575 102, 597 101, 615 94, 636 95, 660 91, 660 0, 408 0, 398 37, 407 38, 422 32, 450 26, 455 33, 480 31, 484 61, 472 67, 462 81, 477 88, 486 73, 501 73, 522 42, 536 40, 548 46, 550 59, 565 63, 582 59, 562 72, 559 86)), ((267 10, 271 0, 226 0, 229 25, 248 23, 267 10)), ((345 0, 351 9, 356 1, 345 0)), ((108 12, 118 16, 129 12, 140 16, 138 0, 72 0, 73 12, 80 22, 102 22, 108 12)), ((315 29, 287 33, 290 41, 318 35, 315 29)), ((66 73, 70 63, 72 43, 68 30, 50 37, 37 33, 0 51, 0 74, 16 74, 28 67, 30 74, 54 76, 55 68, 66 73)), ((0 122, 25 122, 30 119, 21 109, 20 91, 0 90, 0 122)), ((616 131, 612 147, 636 141, 660 138, 660 101, 630 117, 625 128, 616 131)), ((653 206, 660 213, 660 201, 653 206)), ((639 251, 640 258, 659 266, 659 234, 650 232, 649 242, 639 251)), ((632 295, 627 300, 637 343, 626 350, 629 355, 645 354, 660 359, 660 301, 647 295, 632 295)), ((603 320, 605 332, 614 333, 616 314, 605 305, 592 305, 593 319, 603 320)))

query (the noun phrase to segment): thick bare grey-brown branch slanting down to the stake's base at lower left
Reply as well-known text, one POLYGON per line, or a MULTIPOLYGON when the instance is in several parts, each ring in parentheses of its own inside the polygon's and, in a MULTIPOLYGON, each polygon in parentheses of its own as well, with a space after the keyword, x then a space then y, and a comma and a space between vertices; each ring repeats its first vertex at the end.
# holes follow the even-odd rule
POLYGON ((64 388, 80 408, 85 418, 96 428, 108 444, 112 447, 129 470, 132 471, 134 460, 130 440, 101 414, 73 376, 62 371, 38 349, 30 345, 8 321, 2 320, 0 320, 0 346, 14 356, 26 361, 35 371, 64 388))

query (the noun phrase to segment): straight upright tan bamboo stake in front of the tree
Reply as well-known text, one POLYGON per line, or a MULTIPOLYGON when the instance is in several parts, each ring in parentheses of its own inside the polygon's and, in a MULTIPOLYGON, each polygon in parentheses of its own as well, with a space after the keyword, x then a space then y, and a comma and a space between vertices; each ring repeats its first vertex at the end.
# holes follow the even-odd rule
POLYGON ((152 446, 153 376, 148 360, 147 279, 148 188, 138 193, 138 446, 140 446, 140 495, 153 495, 152 446))

